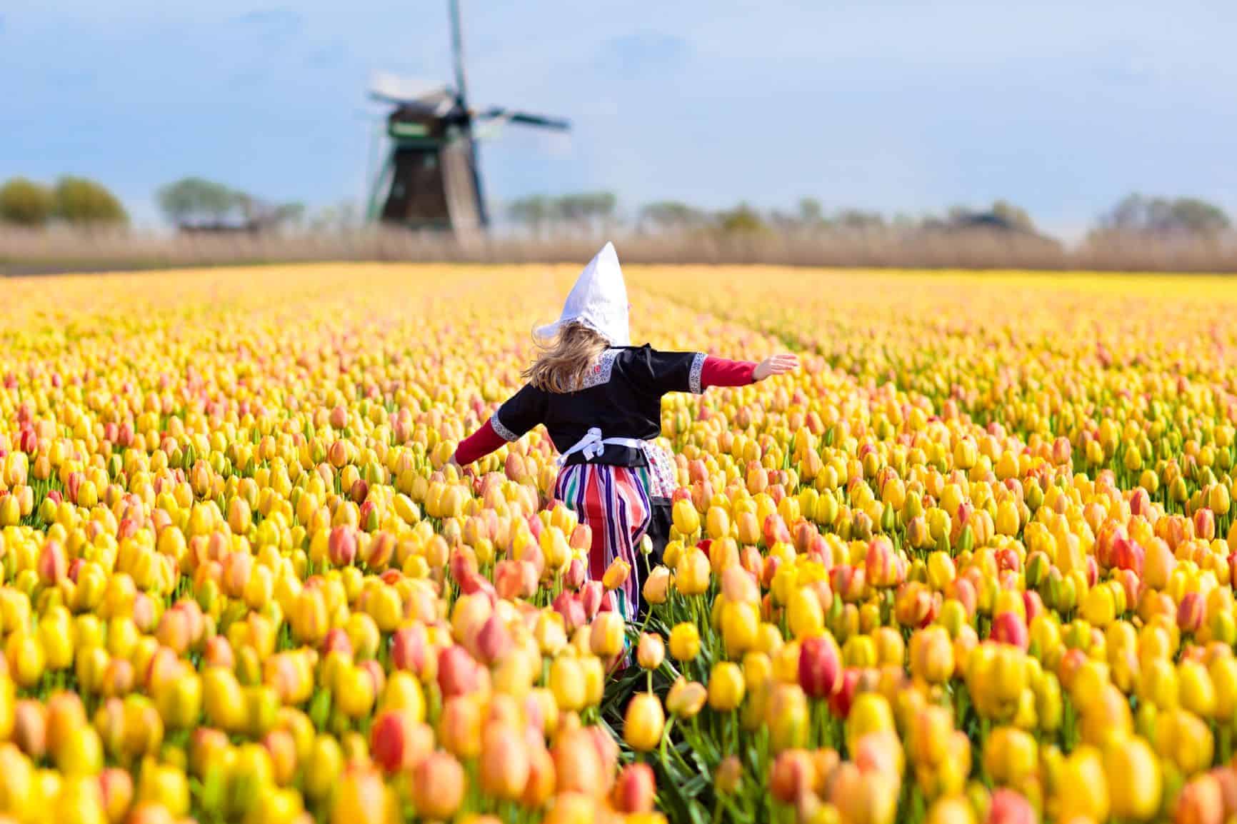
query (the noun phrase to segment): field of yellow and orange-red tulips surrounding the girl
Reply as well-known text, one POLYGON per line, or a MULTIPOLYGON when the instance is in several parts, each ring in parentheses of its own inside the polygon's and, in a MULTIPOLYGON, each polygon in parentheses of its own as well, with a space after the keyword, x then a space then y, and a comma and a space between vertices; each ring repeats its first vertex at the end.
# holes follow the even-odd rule
POLYGON ((0 824, 1227 824, 1237 285, 632 267, 651 614, 538 428, 575 267, 0 280, 0 824))

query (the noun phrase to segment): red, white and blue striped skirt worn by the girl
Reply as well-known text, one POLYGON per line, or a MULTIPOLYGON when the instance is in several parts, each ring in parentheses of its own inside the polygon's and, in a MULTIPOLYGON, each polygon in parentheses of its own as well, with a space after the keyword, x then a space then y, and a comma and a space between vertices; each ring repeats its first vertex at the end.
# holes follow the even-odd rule
POLYGON ((574 464, 558 473, 554 497, 571 507, 581 523, 593 531, 589 551, 589 578, 601 580, 616 558, 631 565, 623 585, 606 594, 602 609, 636 619, 641 580, 640 539, 648 528, 653 506, 649 502, 651 479, 646 466, 609 466, 574 464))

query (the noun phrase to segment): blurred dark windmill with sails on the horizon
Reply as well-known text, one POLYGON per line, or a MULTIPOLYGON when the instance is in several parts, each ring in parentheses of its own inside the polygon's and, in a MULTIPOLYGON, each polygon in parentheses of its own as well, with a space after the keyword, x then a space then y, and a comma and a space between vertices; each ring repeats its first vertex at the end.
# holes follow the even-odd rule
POLYGON ((506 124, 567 131, 557 118, 494 106, 473 109, 464 80, 459 0, 448 0, 454 88, 379 74, 370 98, 393 106, 386 118, 388 153, 374 181, 369 218, 458 234, 485 229, 476 144, 506 124))

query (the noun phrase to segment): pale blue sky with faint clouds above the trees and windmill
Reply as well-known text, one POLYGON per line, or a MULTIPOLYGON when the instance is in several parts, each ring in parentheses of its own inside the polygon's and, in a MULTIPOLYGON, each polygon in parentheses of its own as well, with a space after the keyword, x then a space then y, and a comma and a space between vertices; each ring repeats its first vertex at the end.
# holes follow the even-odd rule
MULTIPOLYGON (((1237 217, 1237 4, 465 0, 489 195, 612 189, 910 214, 1006 197, 1076 236, 1129 191, 1237 217)), ((445 0, 4 0, 0 178, 365 191, 371 72, 447 80, 445 0)))

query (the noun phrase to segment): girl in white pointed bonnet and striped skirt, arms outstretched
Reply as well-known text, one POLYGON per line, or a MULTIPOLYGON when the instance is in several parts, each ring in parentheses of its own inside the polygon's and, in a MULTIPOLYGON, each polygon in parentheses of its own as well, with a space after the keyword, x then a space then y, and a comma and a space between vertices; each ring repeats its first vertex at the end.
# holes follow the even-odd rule
POLYGON ((559 320, 537 330, 542 351, 522 375, 524 387, 459 444, 453 460, 470 464, 544 424, 560 453, 554 497, 593 532, 589 575, 600 579, 616 558, 631 565, 602 605, 630 621, 644 610, 636 548, 646 533, 656 553, 666 547, 678 486, 673 460, 652 443, 661 434, 662 396, 762 381, 797 369, 798 359, 752 364, 632 346, 627 309, 618 256, 606 244, 559 320))

